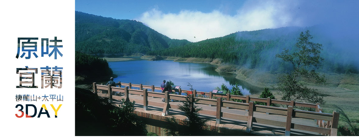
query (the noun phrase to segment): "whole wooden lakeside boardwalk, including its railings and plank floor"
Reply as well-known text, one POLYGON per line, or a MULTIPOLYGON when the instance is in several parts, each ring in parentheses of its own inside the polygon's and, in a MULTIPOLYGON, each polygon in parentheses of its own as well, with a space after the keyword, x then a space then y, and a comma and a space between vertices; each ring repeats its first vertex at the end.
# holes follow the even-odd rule
MULTIPOLYGON (((114 104, 121 104, 121 99, 126 101, 135 101, 135 113, 141 117, 153 121, 164 121, 165 117, 173 115, 177 118, 178 124, 185 119, 183 112, 178 109, 178 104, 185 101, 186 95, 161 93, 155 90, 161 90, 157 86, 148 86, 142 84, 116 83, 111 85, 99 85, 93 83, 93 91, 98 96, 108 97, 114 104), (124 86, 124 87, 121 87, 124 86), (136 89, 132 89, 136 88, 136 89), (112 91, 120 94, 112 95, 112 91), (165 102, 161 101, 165 99, 165 102), (170 99, 175 100, 169 102, 170 99)), ((186 93, 191 90, 181 90, 180 93, 186 93)), ((258 98, 250 96, 220 95, 212 92, 202 92, 194 90, 192 92, 195 99, 199 99, 196 105, 202 107, 200 115, 209 119, 207 129, 217 129, 220 133, 229 131, 250 132, 258 135, 337 135, 337 126, 339 113, 334 111, 332 114, 323 113, 320 104, 310 104, 304 102, 272 100, 270 98, 258 98), (197 97, 203 94, 209 98, 197 97), (212 99, 212 97, 218 97, 212 99), (225 98, 226 100, 221 100, 225 98), (230 101, 230 99, 245 100, 246 103, 230 101), (254 105, 253 101, 265 102, 265 105, 254 105), (271 104, 286 105, 283 107, 272 107, 271 104), (314 111, 304 111, 293 109, 293 106, 311 107, 314 111)), ((164 135, 163 129, 150 127, 149 132, 155 132, 158 135, 164 135)), ((248 134, 248 133, 246 133, 248 134)))

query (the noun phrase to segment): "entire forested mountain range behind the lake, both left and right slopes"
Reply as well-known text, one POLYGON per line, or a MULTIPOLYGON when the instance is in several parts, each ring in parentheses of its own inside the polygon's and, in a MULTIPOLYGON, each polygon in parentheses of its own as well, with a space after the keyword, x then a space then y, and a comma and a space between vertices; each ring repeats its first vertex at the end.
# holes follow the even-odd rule
POLYGON ((221 58, 224 63, 272 73, 291 70, 288 63, 275 55, 281 53, 283 48, 294 51, 291 48, 297 42, 300 32, 309 30, 314 37, 313 42, 323 45, 321 56, 325 61, 322 63, 322 71, 358 73, 359 67, 359 61, 355 60, 357 55, 351 50, 357 44, 348 44, 353 41, 345 38, 334 38, 335 32, 327 31, 319 25, 241 31, 196 43, 170 39, 135 20, 104 18, 78 11, 75 12, 75 26, 76 51, 87 54, 143 53, 221 58))

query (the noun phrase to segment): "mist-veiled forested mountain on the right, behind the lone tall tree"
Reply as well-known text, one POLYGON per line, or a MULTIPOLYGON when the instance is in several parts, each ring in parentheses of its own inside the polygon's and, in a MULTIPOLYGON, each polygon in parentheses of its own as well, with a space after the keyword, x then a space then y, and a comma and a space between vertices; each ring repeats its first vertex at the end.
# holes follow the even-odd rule
POLYGON ((283 27, 257 31, 241 31, 220 38, 207 39, 184 46, 164 50, 149 51, 148 55, 170 55, 178 57, 221 58, 223 62, 244 66, 249 69, 261 69, 272 73, 288 72, 289 63, 276 58, 283 48, 294 51, 300 32, 311 31, 313 42, 323 45, 321 56, 323 72, 358 73, 358 64, 348 55, 353 46, 339 44, 322 33, 320 26, 283 27))

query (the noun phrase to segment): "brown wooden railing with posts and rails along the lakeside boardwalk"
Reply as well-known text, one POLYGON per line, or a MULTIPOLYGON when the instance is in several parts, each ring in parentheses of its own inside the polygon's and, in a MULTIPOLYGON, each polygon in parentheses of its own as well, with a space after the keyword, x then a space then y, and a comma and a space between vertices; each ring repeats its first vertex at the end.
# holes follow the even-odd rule
MULTIPOLYGON (((148 106, 163 106, 162 115, 168 115, 169 114, 169 108, 172 109, 178 109, 178 105, 172 105, 169 104, 169 100, 179 100, 179 101, 185 101, 186 96, 185 95, 176 95, 176 94, 168 94, 166 91, 165 93, 161 92, 155 92, 155 90, 160 90, 160 87, 156 87, 154 85, 148 86, 148 85, 142 85, 142 84, 131 84, 131 83, 121 83, 118 82, 116 85, 122 85, 125 87, 114 87, 111 85, 98 85, 97 83, 93 83, 93 91, 97 93, 98 90, 107 91, 108 93, 112 93, 112 91, 116 92, 122 92, 124 93, 124 96, 116 96, 112 94, 109 95, 109 99, 112 102, 112 97, 116 96, 120 99, 125 99, 126 101, 135 101, 138 103, 143 104, 144 110, 148 110, 148 106), (138 87, 139 89, 132 89, 133 87, 138 87), (148 91, 148 89, 151 89, 151 91, 148 91), (139 99, 132 99, 129 97, 129 94, 135 94, 135 95, 141 95, 143 96, 143 100, 139 99), (165 102, 153 102, 148 101, 148 97, 159 97, 164 98, 165 102)), ((179 91, 182 93, 183 91, 189 91, 189 90, 181 90, 179 91)), ((193 94, 196 95, 197 93, 201 93, 200 91, 193 91, 193 94)), ((211 92, 204 92, 204 94, 208 93, 210 98, 202 98, 202 97, 195 97, 195 99, 199 99, 199 102, 197 104, 205 104, 205 105, 214 105, 216 106, 216 111, 213 110, 202 110, 199 113, 200 114, 206 114, 206 115, 213 115, 216 116, 216 123, 220 124, 222 117, 230 118, 230 119, 236 119, 236 120, 242 120, 247 121, 247 132, 251 132, 252 130, 252 124, 253 122, 259 123, 259 124, 266 124, 266 125, 274 125, 274 126, 280 126, 285 127, 285 135, 289 136, 291 129, 297 129, 297 130, 304 130, 304 131, 311 131, 311 132, 317 132, 322 135, 331 135, 336 136, 337 135, 337 125, 339 121, 339 114, 336 111, 333 111, 332 114, 329 113, 323 113, 321 112, 321 108, 319 104, 309 104, 304 102, 294 102, 292 101, 283 101, 283 100, 271 100, 271 99, 264 99, 264 98, 257 98, 257 97, 249 97, 249 96, 236 96, 236 95, 217 95, 213 94, 211 92), (211 99, 212 96, 219 97, 217 99, 211 99), (221 100, 220 97, 226 97, 227 100, 221 100), (242 102, 233 102, 229 101, 229 99, 241 99, 246 100, 246 103, 242 102), (266 102, 267 105, 254 105, 253 101, 260 101, 260 102, 266 102), (287 108, 283 107, 273 107, 270 106, 270 104, 284 104, 288 105, 287 108), (316 112, 313 111, 304 111, 304 110, 296 110, 293 109, 293 105, 295 106, 303 106, 303 107, 312 107, 316 108, 316 112), (247 115, 239 115, 239 114, 232 114, 229 112, 223 112, 222 107, 230 107, 234 109, 241 109, 248 111, 247 115), (276 115, 282 115, 286 116, 286 121, 278 121, 278 120, 271 120, 271 119, 264 119, 259 117, 253 117, 253 112, 265 112, 270 114, 276 114, 276 115), (313 120, 313 123, 315 123, 314 120, 317 120, 317 127, 314 126, 308 126, 305 124, 297 124, 292 121, 292 118, 304 118, 304 119, 311 119, 313 120)))

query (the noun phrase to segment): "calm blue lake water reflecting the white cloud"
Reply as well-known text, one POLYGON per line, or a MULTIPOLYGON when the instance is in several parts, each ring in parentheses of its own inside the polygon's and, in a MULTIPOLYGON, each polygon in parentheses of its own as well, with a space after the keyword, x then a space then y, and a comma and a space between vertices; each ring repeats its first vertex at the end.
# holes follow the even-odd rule
MULTIPOLYGON (((133 57, 132 57, 133 58, 133 57)), ((163 80, 171 80, 181 89, 188 90, 187 82, 197 91, 212 91, 224 83, 229 89, 237 82, 245 95, 260 92, 261 89, 235 78, 233 74, 222 74, 215 71, 217 66, 172 60, 147 61, 135 59, 129 61, 108 62, 113 74, 121 81, 132 84, 160 86, 163 80)))

